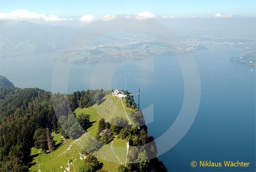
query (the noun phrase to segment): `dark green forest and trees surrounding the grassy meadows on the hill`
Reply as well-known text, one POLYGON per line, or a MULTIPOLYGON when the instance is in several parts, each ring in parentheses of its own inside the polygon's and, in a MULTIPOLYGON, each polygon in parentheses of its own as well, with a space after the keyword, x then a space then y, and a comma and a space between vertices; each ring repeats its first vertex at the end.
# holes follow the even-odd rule
MULTIPOLYGON (((111 93, 101 89, 77 91, 69 95, 52 94, 39 88, 20 89, 10 84, 7 78, 1 78, 0 171, 28 171, 31 148, 41 148, 44 152, 55 149, 52 132, 60 133, 64 138, 79 138, 91 126, 90 115, 76 116, 73 111, 78 107, 89 108, 93 104, 101 104, 104 96, 111 93)), ((132 96, 126 101, 128 106, 136 109, 130 114, 135 126, 129 126, 122 117, 114 118, 110 123, 102 118, 98 129, 100 132, 110 128, 118 137, 129 138, 129 160, 133 163, 127 167, 120 165, 119 171, 151 171, 152 164, 156 171, 167 171, 158 158, 151 158, 156 157, 157 149, 154 138, 147 134, 142 112, 136 108, 132 96)), ((103 135, 97 139, 101 144, 91 141, 84 149, 86 153, 93 153, 102 143, 109 143, 113 138, 103 135)), ((89 156, 79 169, 104 171, 102 166, 97 158, 89 156)))

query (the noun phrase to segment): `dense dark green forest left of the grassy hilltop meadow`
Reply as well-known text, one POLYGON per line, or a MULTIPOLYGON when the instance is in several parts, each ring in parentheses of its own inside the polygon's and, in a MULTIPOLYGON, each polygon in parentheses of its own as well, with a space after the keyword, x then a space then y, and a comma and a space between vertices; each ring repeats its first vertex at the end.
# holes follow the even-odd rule
POLYGON ((105 92, 81 91, 79 101, 77 99, 72 101, 71 98, 75 93, 52 94, 38 88, 20 89, 1 86, 0 171, 28 171, 32 147, 43 150, 54 149, 54 144, 50 144, 52 138, 45 137, 49 131, 61 133, 65 138, 71 139, 83 134, 90 126, 89 115, 79 115, 76 118, 69 104, 71 109, 72 105, 76 106, 76 104, 77 107, 89 107, 93 103, 102 101, 105 92), (42 143, 38 143, 40 140, 42 143))

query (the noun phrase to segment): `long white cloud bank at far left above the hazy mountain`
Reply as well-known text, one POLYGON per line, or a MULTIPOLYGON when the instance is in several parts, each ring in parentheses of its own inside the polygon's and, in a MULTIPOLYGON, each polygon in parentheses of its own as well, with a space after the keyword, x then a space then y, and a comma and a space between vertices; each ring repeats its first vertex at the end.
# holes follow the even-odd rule
POLYGON ((44 19, 45 21, 70 21, 71 18, 60 18, 56 15, 45 15, 28 12, 27 10, 16 10, 11 13, 0 13, 0 19, 3 20, 26 20, 26 19, 44 19))

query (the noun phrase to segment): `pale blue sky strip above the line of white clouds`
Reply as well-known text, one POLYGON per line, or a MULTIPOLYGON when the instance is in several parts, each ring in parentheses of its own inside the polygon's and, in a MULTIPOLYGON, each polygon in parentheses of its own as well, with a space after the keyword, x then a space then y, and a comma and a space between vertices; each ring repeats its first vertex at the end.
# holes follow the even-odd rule
POLYGON ((255 0, 1 0, 0 12, 11 13, 19 9, 28 12, 71 18, 73 16, 132 14, 150 12, 167 17, 212 17, 215 14, 253 16, 255 0))

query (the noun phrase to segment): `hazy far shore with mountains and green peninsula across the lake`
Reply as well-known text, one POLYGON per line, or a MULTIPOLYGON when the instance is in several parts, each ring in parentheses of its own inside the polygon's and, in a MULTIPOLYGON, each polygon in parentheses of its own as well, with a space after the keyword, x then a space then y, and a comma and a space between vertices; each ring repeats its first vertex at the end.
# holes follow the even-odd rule
MULTIPOLYGON (((255 18, 249 17, 137 20, 133 15, 129 18, 118 15, 113 19, 93 21, 83 28, 0 20, 0 57, 70 50, 50 60, 86 64, 192 52, 204 48, 203 43, 216 43, 219 37, 218 42, 223 44, 238 44, 239 39, 249 39, 247 42, 250 42, 254 40, 253 35, 255 18)), ((248 51, 255 52, 253 46, 250 45, 248 51)), ((249 59, 248 63, 250 61, 254 62, 249 59)))

